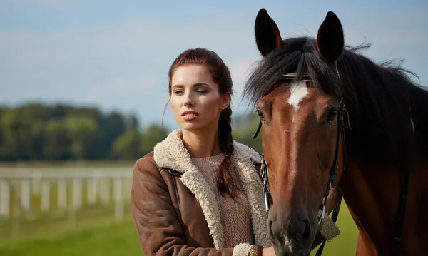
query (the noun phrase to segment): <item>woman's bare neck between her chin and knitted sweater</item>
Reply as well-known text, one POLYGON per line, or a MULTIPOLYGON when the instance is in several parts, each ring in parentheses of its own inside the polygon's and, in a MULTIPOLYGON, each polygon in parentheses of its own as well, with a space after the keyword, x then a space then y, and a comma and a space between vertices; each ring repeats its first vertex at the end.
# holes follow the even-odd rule
POLYGON ((198 133, 182 130, 181 138, 190 153, 190 158, 208 158, 221 153, 217 130, 205 130, 198 133))

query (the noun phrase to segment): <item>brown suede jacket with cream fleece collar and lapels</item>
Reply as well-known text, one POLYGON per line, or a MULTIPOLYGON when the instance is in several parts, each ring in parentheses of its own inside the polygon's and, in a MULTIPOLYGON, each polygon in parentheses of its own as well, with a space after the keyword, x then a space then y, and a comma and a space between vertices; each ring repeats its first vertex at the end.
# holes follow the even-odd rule
MULTIPOLYGON (((269 247, 263 185, 255 163, 260 155, 234 142, 232 162, 250 203, 255 244, 269 247)), ((174 130, 133 168, 131 206, 146 256, 247 256, 250 245, 223 248, 223 227, 214 193, 191 163, 174 130)))

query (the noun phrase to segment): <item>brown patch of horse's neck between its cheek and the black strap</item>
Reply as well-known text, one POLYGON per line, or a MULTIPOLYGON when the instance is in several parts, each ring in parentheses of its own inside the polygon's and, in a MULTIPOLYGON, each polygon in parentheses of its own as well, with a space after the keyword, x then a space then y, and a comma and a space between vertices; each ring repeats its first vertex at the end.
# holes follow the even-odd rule
POLYGON ((376 248, 379 255, 389 255, 399 201, 399 176, 390 168, 348 158, 339 183, 359 227, 360 240, 367 250, 376 248))

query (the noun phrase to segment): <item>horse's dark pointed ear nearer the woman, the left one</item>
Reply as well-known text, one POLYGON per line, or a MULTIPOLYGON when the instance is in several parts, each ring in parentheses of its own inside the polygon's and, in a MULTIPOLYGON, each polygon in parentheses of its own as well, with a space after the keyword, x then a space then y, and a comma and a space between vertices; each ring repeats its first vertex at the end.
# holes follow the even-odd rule
POLYGON ((262 56, 266 56, 267 53, 270 53, 282 44, 280 30, 264 8, 260 9, 255 18, 254 29, 255 42, 262 56))

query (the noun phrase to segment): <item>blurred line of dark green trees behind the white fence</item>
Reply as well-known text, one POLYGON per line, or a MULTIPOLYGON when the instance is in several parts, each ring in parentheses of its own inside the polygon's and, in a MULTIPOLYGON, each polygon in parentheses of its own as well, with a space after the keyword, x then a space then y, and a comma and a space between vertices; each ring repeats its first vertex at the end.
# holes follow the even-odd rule
MULTIPOLYGON (((255 115, 234 115, 233 136, 261 152, 255 115)), ((95 107, 27 103, 0 107, 0 161, 136 160, 166 138, 168 128, 95 107)), ((260 136, 259 136, 260 137, 260 136)))

